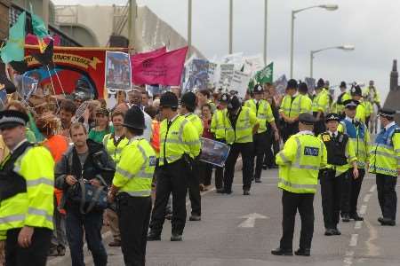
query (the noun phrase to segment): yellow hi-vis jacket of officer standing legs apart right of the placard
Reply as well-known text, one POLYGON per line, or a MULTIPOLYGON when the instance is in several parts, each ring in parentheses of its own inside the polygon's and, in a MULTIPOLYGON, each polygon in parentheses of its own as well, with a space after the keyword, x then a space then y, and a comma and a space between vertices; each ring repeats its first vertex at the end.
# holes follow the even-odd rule
POLYGON ((225 117, 227 144, 252 142, 252 129, 258 123, 255 113, 252 113, 252 110, 247 107, 242 107, 237 114, 235 129, 228 116, 227 112, 225 117))

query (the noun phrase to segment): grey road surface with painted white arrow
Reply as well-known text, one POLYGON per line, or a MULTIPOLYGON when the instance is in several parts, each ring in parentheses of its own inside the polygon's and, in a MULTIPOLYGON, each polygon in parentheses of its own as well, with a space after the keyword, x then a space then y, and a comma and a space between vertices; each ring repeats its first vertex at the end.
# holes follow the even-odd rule
MULTIPOLYGON (((147 265, 239 266, 303 265, 392 266, 400 265, 400 227, 382 227, 377 222, 380 207, 374 176, 364 179, 358 206, 364 222, 339 225, 341 236, 324 236, 320 192, 314 201, 316 223, 310 257, 274 256, 282 232, 282 192, 277 189, 276 169, 264 170, 262 183, 252 184, 252 194, 242 195, 242 175, 236 171, 234 192, 204 192, 201 222, 188 222, 182 242, 171 242, 171 223, 166 221, 161 241, 148 242, 147 265)), ((188 213, 189 213, 188 203, 188 213)), ((298 247, 300 217, 296 220, 293 248, 298 247)), ((105 233, 104 243, 111 241, 105 233)), ((124 265, 120 248, 108 247, 108 265, 124 265)), ((92 256, 84 248, 86 265, 92 256)), ((71 265, 69 255, 49 260, 48 265, 71 265)))

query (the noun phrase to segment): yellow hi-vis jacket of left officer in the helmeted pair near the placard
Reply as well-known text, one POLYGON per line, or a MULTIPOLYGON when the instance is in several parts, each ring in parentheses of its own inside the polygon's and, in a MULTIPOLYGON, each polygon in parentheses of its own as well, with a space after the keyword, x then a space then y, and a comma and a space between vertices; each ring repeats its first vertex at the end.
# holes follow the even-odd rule
POLYGON ((177 116, 168 128, 164 119, 160 126, 160 160, 159 165, 180 160, 184 153, 195 159, 200 153, 201 143, 198 131, 193 124, 183 116, 177 116))

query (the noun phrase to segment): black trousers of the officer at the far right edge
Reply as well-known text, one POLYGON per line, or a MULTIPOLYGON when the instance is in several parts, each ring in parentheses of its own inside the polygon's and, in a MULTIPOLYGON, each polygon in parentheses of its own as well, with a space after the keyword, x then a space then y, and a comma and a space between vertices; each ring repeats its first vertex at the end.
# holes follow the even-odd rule
POLYGON ((376 174, 376 188, 382 215, 384 218, 395 221, 397 207, 396 183, 397 176, 376 174))

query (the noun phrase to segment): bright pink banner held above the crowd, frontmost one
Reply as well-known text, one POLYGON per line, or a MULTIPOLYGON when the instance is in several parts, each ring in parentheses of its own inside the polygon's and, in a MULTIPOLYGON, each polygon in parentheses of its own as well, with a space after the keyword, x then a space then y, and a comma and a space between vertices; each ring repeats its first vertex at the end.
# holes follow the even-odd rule
POLYGON ((132 82, 179 86, 188 47, 144 60, 132 60, 132 82))

